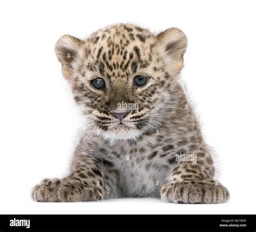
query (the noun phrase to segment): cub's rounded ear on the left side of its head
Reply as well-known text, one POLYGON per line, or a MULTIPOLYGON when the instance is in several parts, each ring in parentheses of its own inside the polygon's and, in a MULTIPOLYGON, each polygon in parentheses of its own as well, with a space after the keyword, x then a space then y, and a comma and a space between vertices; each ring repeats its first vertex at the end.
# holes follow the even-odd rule
POLYGON ((59 38, 55 45, 55 52, 59 62, 62 64, 62 71, 65 78, 69 79, 72 73, 72 62, 78 57, 83 40, 76 37, 64 35, 59 38))

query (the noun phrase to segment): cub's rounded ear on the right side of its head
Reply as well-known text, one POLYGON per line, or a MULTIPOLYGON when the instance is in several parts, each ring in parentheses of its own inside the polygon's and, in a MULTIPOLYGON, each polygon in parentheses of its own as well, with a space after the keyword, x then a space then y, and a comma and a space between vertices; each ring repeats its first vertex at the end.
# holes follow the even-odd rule
POLYGON ((167 29, 157 35, 157 48, 170 60, 170 69, 174 76, 183 68, 183 55, 187 48, 187 37, 177 28, 167 29))

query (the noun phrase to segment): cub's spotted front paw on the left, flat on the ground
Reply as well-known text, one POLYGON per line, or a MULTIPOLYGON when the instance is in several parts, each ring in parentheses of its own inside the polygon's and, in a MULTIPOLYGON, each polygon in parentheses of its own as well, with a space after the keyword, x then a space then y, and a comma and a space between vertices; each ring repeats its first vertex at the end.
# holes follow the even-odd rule
POLYGON ((97 201, 103 199, 102 188, 84 186, 72 179, 45 179, 32 190, 32 198, 40 202, 97 201))

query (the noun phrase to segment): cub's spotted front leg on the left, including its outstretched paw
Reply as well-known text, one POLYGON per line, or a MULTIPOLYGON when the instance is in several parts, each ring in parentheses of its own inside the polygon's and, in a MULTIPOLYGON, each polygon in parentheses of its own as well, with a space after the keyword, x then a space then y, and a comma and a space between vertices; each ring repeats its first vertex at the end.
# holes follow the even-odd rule
POLYGON ((118 196, 119 173, 108 163, 91 155, 78 155, 71 170, 64 179, 43 180, 33 188, 32 198, 42 202, 75 202, 118 196))

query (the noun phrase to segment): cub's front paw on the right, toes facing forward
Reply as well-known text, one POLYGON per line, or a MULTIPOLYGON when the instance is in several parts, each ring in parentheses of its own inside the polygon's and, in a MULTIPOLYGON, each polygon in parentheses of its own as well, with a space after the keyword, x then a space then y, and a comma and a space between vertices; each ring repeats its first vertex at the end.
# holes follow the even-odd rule
POLYGON ((212 180, 166 183, 161 188, 161 198, 173 203, 224 203, 229 197, 228 190, 212 180))

